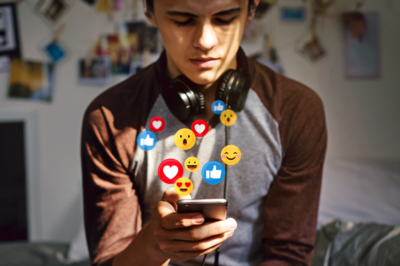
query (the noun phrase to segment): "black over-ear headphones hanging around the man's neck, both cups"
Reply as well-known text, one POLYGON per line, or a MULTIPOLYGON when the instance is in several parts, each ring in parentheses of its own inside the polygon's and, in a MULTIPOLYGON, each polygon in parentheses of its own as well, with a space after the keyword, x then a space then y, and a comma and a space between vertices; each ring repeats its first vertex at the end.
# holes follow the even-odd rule
MULTIPOLYGON (((239 112, 244 107, 249 83, 249 78, 242 72, 228 69, 221 76, 215 100, 221 100, 228 109, 239 112)), ((197 86, 184 75, 180 75, 163 89, 162 94, 169 110, 181 121, 199 115, 205 109, 204 96, 197 86)))

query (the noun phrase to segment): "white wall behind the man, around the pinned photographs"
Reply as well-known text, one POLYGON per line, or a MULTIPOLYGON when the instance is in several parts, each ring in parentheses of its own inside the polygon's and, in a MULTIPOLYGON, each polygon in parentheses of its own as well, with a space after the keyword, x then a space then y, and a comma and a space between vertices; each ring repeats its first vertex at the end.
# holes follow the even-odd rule
MULTIPOLYGON (((300 0, 279 0, 279 5, 302 4, 300 0)), ((25 58, 41 58, 37 51, 51 29, 32 10, 34 1, 18 6, 22 52, 25 58)), ((400 17, 385 7, 385 1, 369 0, 363 10, 378 10, 380 22, 381 78, 346 80, 343 71, 343 34, 340 14, 353 9, 352 1, 337 0, 318 29, 328 57, 310 64, 294 51, 295 40, 306 23, 281 23, 278 6, 264 18, 273 34, 286 74, 313 88, 322 98, 328 126, 328 156, 357 159, 377 157, 400 159, 400 17)), ((140 16, 143 18, 144 16, 140 16)), ((139 18, 140 18, 139 17, 139 18)), ((62 41, 70 58, 57 69, 51 103, 10 100, 7 73, 0 74, 0 112, 28 110, 37 113, 39 162, 36 191, 39 206, 33 210, 38 224, 32 240, 69 241, 78 231, 82 217, 79 138, 83 112, 89 102, 106 87, 77 83, 77 58, 88 53, 99 33, 113 32, 106 14, 95 13, 78 0, 64 17, 62 41)), ((259 42, 260 43, 260 42, 259 42)), ((245 44, 250 53, 257 42, 245 44)), ((124 77, 115 77, 113 83, 124 77)))

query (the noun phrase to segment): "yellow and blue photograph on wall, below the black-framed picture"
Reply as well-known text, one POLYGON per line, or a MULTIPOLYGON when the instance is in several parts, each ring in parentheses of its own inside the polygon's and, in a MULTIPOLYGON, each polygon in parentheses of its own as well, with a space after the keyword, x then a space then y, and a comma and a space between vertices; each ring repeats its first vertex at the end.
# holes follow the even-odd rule
POLYGON ((51 101, 54 88, 52 63, 13 58, 8 78, 8 97, 51 101))

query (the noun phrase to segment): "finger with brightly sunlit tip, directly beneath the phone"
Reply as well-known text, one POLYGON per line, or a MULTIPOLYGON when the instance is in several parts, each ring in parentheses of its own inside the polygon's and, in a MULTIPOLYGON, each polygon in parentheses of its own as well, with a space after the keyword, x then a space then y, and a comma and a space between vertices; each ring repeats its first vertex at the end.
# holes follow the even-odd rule
POLYGON ((225 221, 204 223, 202 225, 186 227, 179 230, 165 232, 168 239, 183 241, 201 241, 235 230, 237 223, 233 218, 225 221))

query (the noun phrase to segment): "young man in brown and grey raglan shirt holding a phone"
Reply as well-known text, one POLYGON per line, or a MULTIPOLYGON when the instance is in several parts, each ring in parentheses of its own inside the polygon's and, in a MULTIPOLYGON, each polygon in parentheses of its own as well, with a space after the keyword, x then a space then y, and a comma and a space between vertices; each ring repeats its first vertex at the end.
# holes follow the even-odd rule
MULTIPOLYGON (((82 127, 84 214, 93 265, 307 265, 316 228, 326 128, 322 103, 305 86, 248 59, 239 48, 259 0, 146 0, 165 51, 159 60, 110 88, 87 108, 82 127), (237 69, 250 89, 226 133, 211 110, 222 74, 237 69), (163 97, 170 80, 185 75, 202 92, 205 110, 180 121, 163 97), (154 116, 165 128, 154 149, 137 135, 154 116), (204 119, 210 129, 193 148, 178 149, 176 131, 204 119), (227 144, 242 157, 229 166, 225 221, 177 214, 173 185, 157 175, 167 158, 204 165, 220 161, 227 144), (161 200, 161 201, 160 201, 161 200)), ((193 198, 222 198, 223 183, 190 174, 193 198)), ((188 172, 184 173, 188 175, 188 172)))

